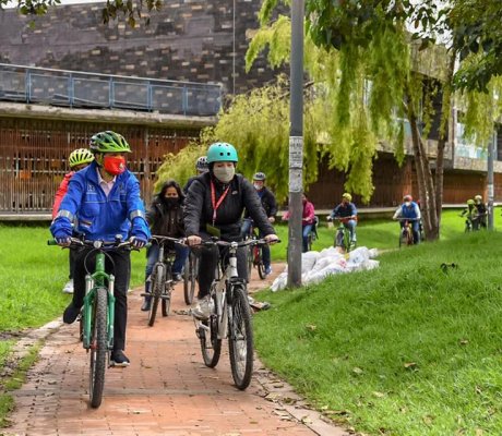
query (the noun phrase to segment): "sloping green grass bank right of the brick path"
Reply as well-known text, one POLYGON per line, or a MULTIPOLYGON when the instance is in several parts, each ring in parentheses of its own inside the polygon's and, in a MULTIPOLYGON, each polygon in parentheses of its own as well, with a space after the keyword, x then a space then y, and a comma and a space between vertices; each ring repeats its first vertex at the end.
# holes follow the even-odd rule
POLYGON ((358 432, 502 434, 502 234, 444 233, 372 271, 260 293, 263 362, 358 432))

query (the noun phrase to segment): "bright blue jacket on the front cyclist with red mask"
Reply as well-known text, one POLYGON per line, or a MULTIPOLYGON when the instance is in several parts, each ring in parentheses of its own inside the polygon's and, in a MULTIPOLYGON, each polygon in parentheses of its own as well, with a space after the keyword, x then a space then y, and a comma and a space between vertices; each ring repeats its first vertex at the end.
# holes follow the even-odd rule
POLYGON ((129 170, 117 175, 108 196, 99 186, 96 162, 76 172, 50 226, 52 235, 70 237, 75 216, 75 230, 86 240, 112 242, 117 234, 121 234, 123 241, 129 237, 147 241, 151 237, 140 198, 140 182, 129 170))

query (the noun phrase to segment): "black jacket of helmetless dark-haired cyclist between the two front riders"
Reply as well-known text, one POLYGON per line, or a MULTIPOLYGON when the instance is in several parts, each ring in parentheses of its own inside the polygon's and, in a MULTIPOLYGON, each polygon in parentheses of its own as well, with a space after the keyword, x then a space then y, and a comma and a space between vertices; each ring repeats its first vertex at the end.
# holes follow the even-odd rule
POLYGON ((174 207, 168 207, 160 196, 156 195, 146 213, 146 221, 152 229, 152 234, 171 238, 184 237, 183 207, 180 203, 174 207))

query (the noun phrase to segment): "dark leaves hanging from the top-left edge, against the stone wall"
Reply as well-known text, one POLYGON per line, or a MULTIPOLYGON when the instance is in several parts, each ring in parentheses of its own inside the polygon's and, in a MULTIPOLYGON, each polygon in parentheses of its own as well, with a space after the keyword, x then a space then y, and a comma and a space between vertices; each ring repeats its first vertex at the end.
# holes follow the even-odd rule
MULTIPOLYGON (((23 15, 44 15, 49 11, 49 8, 61 4, 61 0, 16 0, 17 10, 23 15)), ((3 9, 10 0, 0 0, 0 10, 3 9)), ((103 23, 108 23, 110 20, 119 20, 123 17, 131 26, 136 25, 138 20, 144 20, 146 25, 150 23, 147 12, 159 11, 163 5, 163 0, 107 0, 105 8, 101 9, 103 23)))

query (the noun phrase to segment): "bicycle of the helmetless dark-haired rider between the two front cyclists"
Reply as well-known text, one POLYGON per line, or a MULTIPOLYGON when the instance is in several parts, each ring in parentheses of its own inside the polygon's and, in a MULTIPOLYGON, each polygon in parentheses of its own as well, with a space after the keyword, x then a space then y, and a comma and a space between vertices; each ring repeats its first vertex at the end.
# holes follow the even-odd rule
POLYGON ((158 303, 162 301, 163 316, 169 316, 169 308, 171 304, 171 293, 175 289, 175 280, 172 279, 172 264, 175 262, 176 252, 174 250, 165 251, 166 242, 174 242, 175 244, 184 245, 181 239, 162 237, 153 234, 151 241, 158 244, 158 257, 155 263, 152 274, 150 275, 150 293, 142 293, 142 296, 150 296, 152 303, 148 311, 148 326, 153 327, 157 316, 158 303))

